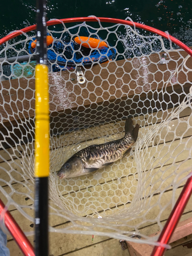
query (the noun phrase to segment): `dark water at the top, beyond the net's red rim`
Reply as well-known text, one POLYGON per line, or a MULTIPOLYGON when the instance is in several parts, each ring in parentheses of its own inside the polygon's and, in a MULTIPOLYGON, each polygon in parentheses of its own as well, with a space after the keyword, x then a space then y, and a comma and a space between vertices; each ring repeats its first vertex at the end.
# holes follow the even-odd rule
MULTIPOLYGON (((1 0, 0 37, 35 24, 35 0, 1 0)), ((169 34, 192 46, 191 0, 48 0, 47 17, 68 18, 95 15, 139 22, 169 34)), ((145 32, 143 32, 144 34, 145 32)))

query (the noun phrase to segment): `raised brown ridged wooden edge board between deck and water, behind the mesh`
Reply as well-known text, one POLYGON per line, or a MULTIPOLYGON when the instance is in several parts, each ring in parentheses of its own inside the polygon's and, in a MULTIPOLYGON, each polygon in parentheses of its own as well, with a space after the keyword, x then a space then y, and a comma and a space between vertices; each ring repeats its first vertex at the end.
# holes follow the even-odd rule
MULTIPOLYGON (((178 68, 178 78, 173 76, 173 79, 176 79, 174 88, 168 83, 166 90, 164 88, 161 93, 158 92, 168 81, 170 74, 181 64, 180 54, 186 56, 184 51, 170 52, 170 61, 167 65, 156 66, 160 54, 112 61, 103 64, 102 71, 101 66, 96 65, 92 70, 84 71, 87 81, 81 85, 75 80, 72 81, 75 75, 73 72, 51 74, 51 133, 66 133, 75 128, 83 129, 85 125, 98 126, 129 115, 137 116, 152 112, 153 109, 164 109, 167 108, 167 104, 178 104, 189 92, 192 72, 188 71, 186 78, 184 72, 178 68), (147 74, 146 67, 150 71, 147 74), (115 70, 116 75, 112 74, 115 70), (77 119, 80 122, 75 121, 77 119)), ((186 65, 190 69, 189 60, 186 61, 186 65)), ((28 131, 34 128, 34 79, 13 79, 11 84, 9 81, 3 81, 0 101, 1 97, 4 99, 4 104, 0 105, 3 118, 1 131, 7 134, 6 127, 10 130, 10 136, 6 136, 5 140, 0 134, 4 147, 14 145, 18 138, 31 141, 34 133, 28 131)))

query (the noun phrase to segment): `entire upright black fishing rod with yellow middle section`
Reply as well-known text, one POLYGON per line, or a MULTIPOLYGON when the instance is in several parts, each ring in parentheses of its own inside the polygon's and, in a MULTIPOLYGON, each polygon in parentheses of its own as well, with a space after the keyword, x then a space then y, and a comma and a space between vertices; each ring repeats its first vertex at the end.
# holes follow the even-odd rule
POLYGON ((49 83, 46 0, 37 0, 35 67, 35 256, 49 255, 49 83))

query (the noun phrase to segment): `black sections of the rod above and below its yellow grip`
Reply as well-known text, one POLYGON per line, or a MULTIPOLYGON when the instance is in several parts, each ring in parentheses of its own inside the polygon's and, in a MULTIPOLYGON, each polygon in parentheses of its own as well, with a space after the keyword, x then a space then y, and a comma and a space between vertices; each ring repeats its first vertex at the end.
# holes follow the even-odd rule
MULTIPOLYGON (((37 0, 37 64, 47 65, 46 0, 37 0)), ((43 85, 42 85, 43 86, 43 85)), ((37 118, 37 117, 36 117, 37 118)), ((44 146, 44 145, 41 145, 44 146)), ((42 170, 43 172, 43 170, 42 170)), ((35 255, 48 256, 48 183, 49 176, 35 177, 35 255)))

